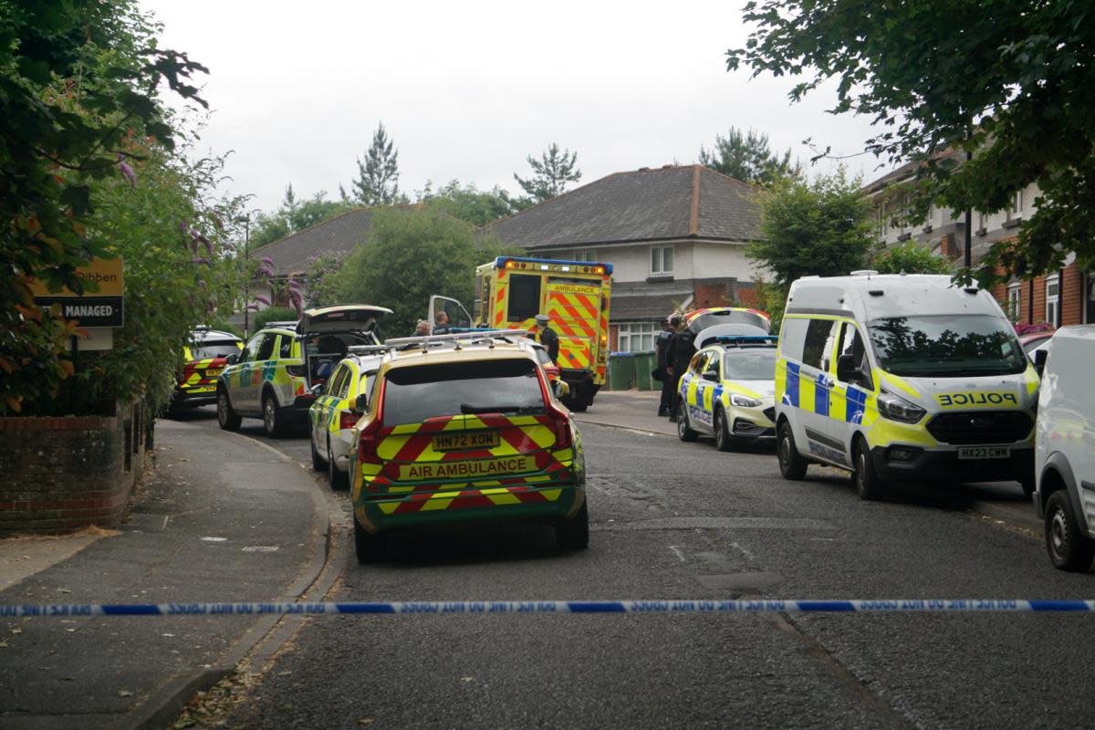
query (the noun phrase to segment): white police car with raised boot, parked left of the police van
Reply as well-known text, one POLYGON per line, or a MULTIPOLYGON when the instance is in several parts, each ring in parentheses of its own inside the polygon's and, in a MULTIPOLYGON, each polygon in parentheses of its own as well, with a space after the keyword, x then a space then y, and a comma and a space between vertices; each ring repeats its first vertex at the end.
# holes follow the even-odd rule
POLYGON ((681 441, 714 436, 719 451, 736 441, 774 437, 776 338, 717 336, 712 341, 681 375, 677 436, 681 441))

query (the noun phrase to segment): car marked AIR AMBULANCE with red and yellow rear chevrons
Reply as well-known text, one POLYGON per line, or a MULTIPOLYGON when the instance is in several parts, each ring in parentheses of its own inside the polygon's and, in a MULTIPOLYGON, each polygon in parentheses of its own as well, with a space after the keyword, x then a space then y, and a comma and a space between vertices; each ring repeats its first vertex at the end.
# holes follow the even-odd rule
POLYGON ((585 548, 581 437, 530 343, 488 331, 385 344, 354 427, 358 560, 392 532, 460 523, 548 523, 560 547, 585 548))

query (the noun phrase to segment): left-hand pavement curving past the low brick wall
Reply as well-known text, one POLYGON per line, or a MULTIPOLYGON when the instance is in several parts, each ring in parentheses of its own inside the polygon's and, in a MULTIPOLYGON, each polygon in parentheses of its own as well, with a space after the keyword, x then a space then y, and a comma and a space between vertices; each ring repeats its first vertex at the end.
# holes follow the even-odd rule
MULTIPOLYGON (((118 531, 0 541, 0 605, 295 601, 327 557, 314 476, 239 434, 157 424, 118 531)), ((278 617, 0 618, 0 727, 164 727, 278 617)))

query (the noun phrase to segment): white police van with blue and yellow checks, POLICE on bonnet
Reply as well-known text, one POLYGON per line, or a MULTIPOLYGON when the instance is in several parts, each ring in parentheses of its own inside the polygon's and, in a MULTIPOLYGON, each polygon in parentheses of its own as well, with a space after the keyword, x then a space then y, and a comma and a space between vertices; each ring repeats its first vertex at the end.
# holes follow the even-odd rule
POLYGON ((780 471, 887 482, 1016 480, 1034 490, 1038 375, 988 291, 853 271, 791 285, 775 367, 780 471))

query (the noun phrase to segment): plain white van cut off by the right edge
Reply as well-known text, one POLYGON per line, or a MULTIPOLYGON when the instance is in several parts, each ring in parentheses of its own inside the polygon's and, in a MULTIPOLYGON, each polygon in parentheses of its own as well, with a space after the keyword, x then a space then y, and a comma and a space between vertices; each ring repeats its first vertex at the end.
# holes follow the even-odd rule
POLYGON ((1034 503, 1053 567, 1085 572, 1095 557, 1095 325, 1061 327, 1037 355, 1034 503))

